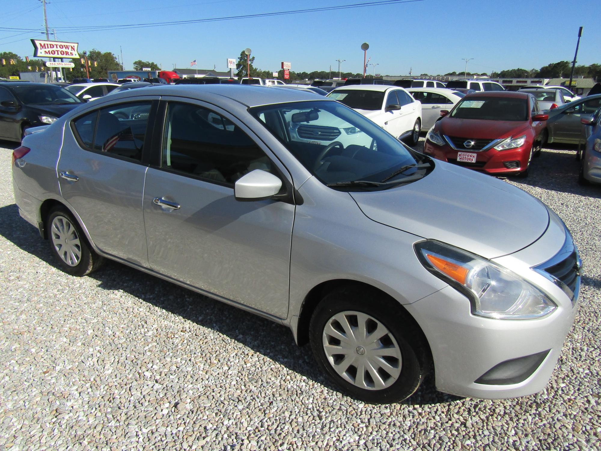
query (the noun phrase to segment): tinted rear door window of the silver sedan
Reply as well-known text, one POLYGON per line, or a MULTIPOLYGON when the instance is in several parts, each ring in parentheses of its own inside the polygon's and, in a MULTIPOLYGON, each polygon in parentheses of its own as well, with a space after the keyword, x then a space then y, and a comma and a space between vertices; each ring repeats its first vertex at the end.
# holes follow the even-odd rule
POLYGON ((93 150, 141 161, 150 105, 134 102, 100 109, 93 150))

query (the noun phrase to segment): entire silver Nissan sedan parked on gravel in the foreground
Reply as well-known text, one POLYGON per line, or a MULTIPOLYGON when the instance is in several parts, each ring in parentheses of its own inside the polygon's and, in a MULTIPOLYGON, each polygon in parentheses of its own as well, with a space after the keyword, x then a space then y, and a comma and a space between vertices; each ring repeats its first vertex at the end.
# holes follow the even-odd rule
POLYGON ((536 393, 576 312, 581 260, 548 207, 314 94, 102 97, 29 129, 13 180, 64 271, 108 258, 260 314, 367 402, 431 370, 460 396, 536 393))

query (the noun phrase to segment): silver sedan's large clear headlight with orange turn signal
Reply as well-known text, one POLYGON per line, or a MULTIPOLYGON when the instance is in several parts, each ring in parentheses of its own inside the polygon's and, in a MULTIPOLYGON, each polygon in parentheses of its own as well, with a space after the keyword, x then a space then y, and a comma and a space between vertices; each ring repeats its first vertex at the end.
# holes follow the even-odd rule
POLYGON ((557 308, 537 287, 482 257, 431 240, 416 243, 415 251, 428 271, 468 296, 475 315, 532 319, 557 308))

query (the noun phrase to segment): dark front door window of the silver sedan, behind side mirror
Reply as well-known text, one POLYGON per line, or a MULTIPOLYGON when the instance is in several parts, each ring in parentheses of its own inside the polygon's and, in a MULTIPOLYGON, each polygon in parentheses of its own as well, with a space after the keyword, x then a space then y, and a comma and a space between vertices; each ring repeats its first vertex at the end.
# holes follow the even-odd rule
POLYGON ((240 127, 216 112, 186 103, 167 107, 161 167, 227 186, 255 169, 275 170, 240 127))

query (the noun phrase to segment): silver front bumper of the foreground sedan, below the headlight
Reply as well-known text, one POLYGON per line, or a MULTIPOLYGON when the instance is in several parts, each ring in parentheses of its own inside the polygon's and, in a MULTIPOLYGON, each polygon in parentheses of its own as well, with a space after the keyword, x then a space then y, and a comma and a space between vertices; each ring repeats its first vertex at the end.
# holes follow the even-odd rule
MULTIPOLYGON (((558 218, 551 220, 555 225, 557 221, 558 218)), ((561 251, 566 235, 553 224, 531 246, 494 259, 551 297, 557 308, 545 318, 499 320, 475 316, 468 299, 451 286, 404 305, 430 344, 438 390, 501 399, 526 396, 545 388, 574 321, 580 284, 578 275, 575 293, 570 296, 548 277, 531 269, 561 251), (542 255, 547 258, 541 259, 542 255), (505 379, 500 380, 499 375, 505 379)))

